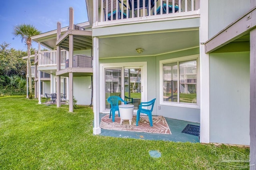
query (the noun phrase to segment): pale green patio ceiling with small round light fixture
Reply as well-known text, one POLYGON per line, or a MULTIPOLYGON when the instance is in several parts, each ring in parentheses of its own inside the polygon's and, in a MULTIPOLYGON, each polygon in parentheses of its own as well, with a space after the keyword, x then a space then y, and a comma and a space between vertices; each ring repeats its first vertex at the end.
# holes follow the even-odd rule
POLYGON ((139 57, 160 55, 199 47, 199 29, 172 30, 161 33, 122 35, 99 39, 99 57, 139 57), (137 48, 144 49, 138 54, 137 48))

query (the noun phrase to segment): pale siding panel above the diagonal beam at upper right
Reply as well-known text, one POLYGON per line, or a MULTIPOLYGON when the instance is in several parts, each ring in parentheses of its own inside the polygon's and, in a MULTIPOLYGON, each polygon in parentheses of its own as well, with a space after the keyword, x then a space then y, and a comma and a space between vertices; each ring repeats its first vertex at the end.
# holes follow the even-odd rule
POLYGON ((250 0, 208 0, 209 35, 213 37, 250 10, 250 0), (220 20, 221 18, 221 20, 220 20))

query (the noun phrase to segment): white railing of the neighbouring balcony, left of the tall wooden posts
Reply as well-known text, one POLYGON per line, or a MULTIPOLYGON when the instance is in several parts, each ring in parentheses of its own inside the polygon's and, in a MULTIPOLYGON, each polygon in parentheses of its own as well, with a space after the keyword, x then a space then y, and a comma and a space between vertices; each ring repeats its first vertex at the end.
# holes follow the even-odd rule
MULTIPOLYGON (((57 65, 57 51, 41 51, 38 53, 39 66, 56 66, 57 65)), ((68 51, 61 51, 61 64, 64 65, 68 59, 68 51)))

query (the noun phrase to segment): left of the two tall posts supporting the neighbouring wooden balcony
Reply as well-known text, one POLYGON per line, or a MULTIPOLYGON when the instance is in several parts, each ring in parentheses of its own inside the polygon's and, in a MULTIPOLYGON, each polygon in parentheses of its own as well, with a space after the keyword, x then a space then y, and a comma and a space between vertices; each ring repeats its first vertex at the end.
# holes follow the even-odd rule
MULTIPOLYGON (((60 38, 61 36, 61 25, 60 22, 57 22, 57 40, 60 38)), ((57 71, 60 71, 60 64, 61 64, 61 51, 60 51, 60 46, 57 46, 57 60, 56 60, 56 64, 57 64, 57 71)), ((60 76, 56 76, 57 79, 57 99, 56 99, 56 105, 57 107, 61 106, 61 97, 60 97, 60 76)))

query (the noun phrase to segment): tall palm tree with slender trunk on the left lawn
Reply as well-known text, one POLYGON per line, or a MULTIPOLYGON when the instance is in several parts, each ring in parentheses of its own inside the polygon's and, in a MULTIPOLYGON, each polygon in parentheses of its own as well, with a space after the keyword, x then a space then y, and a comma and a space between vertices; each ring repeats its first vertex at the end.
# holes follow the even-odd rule
POLYGON ((41 31, 38 31, 36 27, 30 24, 20 24, 16 25, 13 28, 12 34, 16 37, 21 38, 21 42, 25 40, 27 45, 28 53, 28 82, 29 82, 29 99, 32 99, 32 76, 31 76, 31 62, 30 62, 30 48, 32 45, 32 36, 40 34, 41 31))

